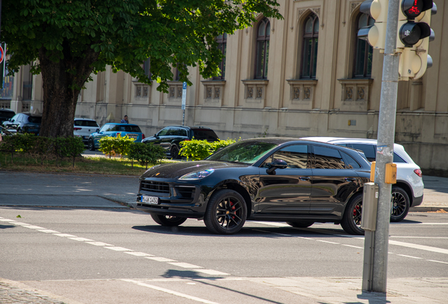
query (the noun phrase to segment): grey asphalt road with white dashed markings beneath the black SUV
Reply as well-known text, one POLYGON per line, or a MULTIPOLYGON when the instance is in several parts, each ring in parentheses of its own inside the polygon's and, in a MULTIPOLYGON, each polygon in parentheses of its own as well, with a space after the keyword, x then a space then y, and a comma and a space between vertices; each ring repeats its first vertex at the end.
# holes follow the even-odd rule
MULTIPOLYGON (((295 290, 321 284, 330 297, 332 284, 360 288, 363 237, 339 225, 247 222, 239 234, 216 236, 201 221, 161 227, 114 203, 135 198, 135 177, 0 172, 0 179, 0 278, 65 303, 347 303, 295 290)), ((447 232, 446 213, 391 223, 391 285, 446 279, 447 232)))

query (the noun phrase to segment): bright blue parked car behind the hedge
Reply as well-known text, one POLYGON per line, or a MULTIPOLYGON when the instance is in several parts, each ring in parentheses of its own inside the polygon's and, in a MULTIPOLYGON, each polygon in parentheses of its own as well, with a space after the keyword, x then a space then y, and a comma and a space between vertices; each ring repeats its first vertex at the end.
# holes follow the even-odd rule
POLYGON ((122 124, 122 123, 106 123, 101 129, 97 129, 97 132, 90 134, 89 136, 89 150, 94 151, 99 148, 99 140, 101 137, 116 137, 120 134, 121 137, 127 137, 135 139, 135 142, 142 142, 144 134, 137 125, 122 124))

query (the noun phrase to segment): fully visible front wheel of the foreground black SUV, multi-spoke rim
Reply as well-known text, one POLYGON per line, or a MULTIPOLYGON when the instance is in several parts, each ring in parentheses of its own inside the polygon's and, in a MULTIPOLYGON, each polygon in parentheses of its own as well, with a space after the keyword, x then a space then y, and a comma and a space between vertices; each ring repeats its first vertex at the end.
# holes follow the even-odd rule
POLYGON ((241 194, 222 189, 210 198, 204 223, 215 234, 235 234, 244 226, 246 217, 247 206, 241 194))

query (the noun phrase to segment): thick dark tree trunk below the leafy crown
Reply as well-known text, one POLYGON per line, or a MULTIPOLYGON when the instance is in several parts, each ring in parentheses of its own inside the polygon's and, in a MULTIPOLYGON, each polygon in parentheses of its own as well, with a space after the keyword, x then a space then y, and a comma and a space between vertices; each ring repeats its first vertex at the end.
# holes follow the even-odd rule
POLYGON ((63 43, 64 58, 51 60, 51 51, 39 50, 44 87, 44 110, 39 132, 43 137, 73 137, 73 119, 78 95, 93 71, 99 53, 92 49, 83 57, 72 57, 70 45, 63 43))

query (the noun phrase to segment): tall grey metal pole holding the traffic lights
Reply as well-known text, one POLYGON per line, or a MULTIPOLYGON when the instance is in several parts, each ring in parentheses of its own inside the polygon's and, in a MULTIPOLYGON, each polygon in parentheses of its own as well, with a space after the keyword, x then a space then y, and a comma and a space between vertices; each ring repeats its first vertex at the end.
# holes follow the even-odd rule
POLYGON ((375 183, 378 184, 378 212, 373 248, 372 291, 387 291, 387 255, 392 184, 385 183, 386 164, 394 156, 395 116, 397 113, 399 54, 397 26, 399 0, 389 0, 387 11, 386 41, 378 120, 378 146, 376 151, 375 183))

